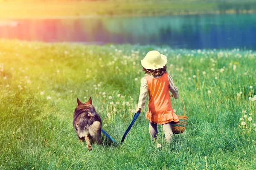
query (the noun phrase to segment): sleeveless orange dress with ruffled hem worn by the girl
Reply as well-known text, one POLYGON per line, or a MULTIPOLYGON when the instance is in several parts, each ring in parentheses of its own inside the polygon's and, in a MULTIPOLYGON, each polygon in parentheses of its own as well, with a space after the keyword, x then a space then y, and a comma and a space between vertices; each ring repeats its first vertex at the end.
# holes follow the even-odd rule
POLYGON ((148 111, 146 118, 152 123, 166 124, 180 122, 178 116, 172 109, 168 74, 165 73, 159 78, 145 77, 148 84, 148 111))

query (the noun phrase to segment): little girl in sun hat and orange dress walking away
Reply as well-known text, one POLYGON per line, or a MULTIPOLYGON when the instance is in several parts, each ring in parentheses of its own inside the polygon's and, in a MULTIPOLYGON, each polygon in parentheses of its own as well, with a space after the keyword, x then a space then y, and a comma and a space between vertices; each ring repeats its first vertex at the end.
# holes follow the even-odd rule
POLYGON ((171 105, 169 91, 175 99, 178 98, 178 89, 173 84, 172 77, 166 73, 167 57, 158 51, 149 51, 141 60, 143 71, 147 76, 141 79, 140 98, 136 112, 145 107, 147 92, 148 111, 146 119, 149 120, 149 133, 151 139, 156 139, 157 124, 163 125, 166 140, 169 142, 173 136, 172 124, 179 121, 171 105))

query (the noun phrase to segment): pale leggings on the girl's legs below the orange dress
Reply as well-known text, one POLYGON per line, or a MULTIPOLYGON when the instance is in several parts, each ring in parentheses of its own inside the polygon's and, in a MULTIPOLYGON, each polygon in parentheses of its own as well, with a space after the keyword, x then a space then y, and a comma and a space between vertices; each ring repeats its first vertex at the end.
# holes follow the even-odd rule
MULTIPOLYGON (((170 142, 172 139, 173 133, 172 133, 172 124, 171 122, 163 124, 163 132, 165 134, 165 138, 167 142, 170 142)), ((157 138, 157 124, 149 122, 149 133, 151 136, 151 139, 157 138)))

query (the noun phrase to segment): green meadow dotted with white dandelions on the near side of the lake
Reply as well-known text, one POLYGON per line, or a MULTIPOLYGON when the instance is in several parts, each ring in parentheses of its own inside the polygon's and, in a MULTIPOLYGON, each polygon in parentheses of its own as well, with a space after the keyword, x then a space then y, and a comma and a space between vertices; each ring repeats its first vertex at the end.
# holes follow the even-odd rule
MULTIPOLYGON (((0 40, 0 169, 256 169, 255 61, 254 51, 236 49, 0 40), (121 146, 102 135, 88 151, 72 126, 76 97, 91 96, 102 127, 120 141, 140 93, 140 60, 153 49, 169 54, 167 71, 189 117, 185 132, 166 143, 159 126, 152 142, 146 108, 121 146), (244 114, 253 119, 245 126, 244 114)), ((183 114, 180 99, 172 105, 183 114)))

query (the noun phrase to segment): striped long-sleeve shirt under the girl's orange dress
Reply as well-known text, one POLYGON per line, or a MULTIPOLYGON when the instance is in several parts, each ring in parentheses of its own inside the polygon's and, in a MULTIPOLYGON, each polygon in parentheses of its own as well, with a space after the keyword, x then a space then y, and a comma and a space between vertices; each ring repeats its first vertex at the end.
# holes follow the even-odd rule
MULTIPOLYGON (((151 76, 151 75, 149 75, 149 76, 150 77, 154 77, 154 76, 151 76)), ((159 78, 159 77, 154 77, 154 78, 159 78)), ((168 74, 168 80, 169 80, 169 91, 171 91, 173 96, 174 96, 174 98, 177 99, 179 97, 178 89, 174 85, 173 79, 172 79, 172 77, 169 74, 168 74)), ((148 93, 148 84, 147 84, 147 81, 146 81, 145 77, 143 77, 141 79, 140 97, 139 97, 138 108, 143 109, 145 107, 147 93, 148 93)))

